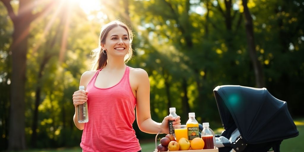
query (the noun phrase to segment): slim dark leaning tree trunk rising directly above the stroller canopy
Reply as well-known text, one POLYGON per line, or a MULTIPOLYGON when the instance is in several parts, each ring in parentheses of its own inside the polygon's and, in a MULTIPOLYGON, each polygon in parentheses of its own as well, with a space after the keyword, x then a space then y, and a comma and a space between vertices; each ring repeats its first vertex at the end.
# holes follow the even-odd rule
POLYGON ((257 60, 257 54, 255 51, 252 18, 249 9, 247 7, 247 0, 242 0, 242 1, 243 1, 244 15, 245 15, 245 27, 247 34, 248 50, 249 50, 250 60, 254 68, 255 84, 258 88, 262 88, 265 87, 264 74, 263 74, 262 65, 257 60))

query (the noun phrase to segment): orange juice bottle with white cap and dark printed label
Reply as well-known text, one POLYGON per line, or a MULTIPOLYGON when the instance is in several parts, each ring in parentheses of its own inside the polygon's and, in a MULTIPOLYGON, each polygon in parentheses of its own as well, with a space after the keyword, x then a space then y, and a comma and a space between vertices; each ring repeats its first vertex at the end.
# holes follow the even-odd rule
POLYGON ((188 140, 191 143, 192 139, 199 137, 199 123, 195 119, 195 113, 189 113, 189 120, 186 123, 187 125, 187 136, 188 140))

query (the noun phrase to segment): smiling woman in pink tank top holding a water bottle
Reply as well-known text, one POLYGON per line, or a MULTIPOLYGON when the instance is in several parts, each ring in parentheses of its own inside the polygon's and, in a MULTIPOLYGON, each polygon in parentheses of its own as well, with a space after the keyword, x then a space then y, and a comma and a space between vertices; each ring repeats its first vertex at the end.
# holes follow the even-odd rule
POLYGON ((168 120, 180 125, 180 116, 164 117, 162 123, 151 119, 150 82, 146 71, 132 68, 126 62, 132 57, 132 32, 120 21, 106 24, 99 37, 93 70, 81 76, 85 92, 73 94, 74 123, 83 130, 83 151, 137 152, 141 150, 132 123, 135 120, 145 133, 168 134, 168 120), (88 123, 78 123, 77 105, 88 103, 88 123))

